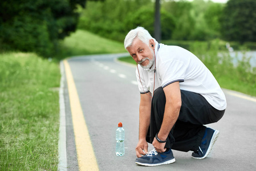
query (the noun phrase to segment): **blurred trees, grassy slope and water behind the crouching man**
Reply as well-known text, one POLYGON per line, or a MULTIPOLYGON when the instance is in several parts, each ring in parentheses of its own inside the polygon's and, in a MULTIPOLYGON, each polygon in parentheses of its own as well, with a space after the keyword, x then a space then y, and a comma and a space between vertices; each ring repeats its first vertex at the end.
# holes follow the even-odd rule
POLYGON ((142 26, 158 42, 192 51, 221 87, 256 96, 255 9, 255 0, 2 0, 0 53, 59 62, 126 52, 125 35, 142 26))

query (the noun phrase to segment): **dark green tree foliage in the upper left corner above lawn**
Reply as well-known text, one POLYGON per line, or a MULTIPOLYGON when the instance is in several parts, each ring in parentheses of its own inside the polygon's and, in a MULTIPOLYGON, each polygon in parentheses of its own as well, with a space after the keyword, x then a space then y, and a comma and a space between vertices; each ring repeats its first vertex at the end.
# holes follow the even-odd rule
POLYGON ((49 56, 58 40, 75 31, 77 5, 86 0, 0 1, 0 48, 49 56))

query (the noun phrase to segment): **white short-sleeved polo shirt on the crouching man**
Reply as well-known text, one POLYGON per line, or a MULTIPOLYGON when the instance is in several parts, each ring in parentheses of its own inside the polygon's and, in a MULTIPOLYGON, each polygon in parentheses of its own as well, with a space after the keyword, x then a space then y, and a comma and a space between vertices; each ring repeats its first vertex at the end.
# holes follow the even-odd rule
MULTIPOLYGON (((155 47, 155 89, 180 82, 180 89, 200 93, 214 108, 220 111, 226 109, 224 92, 197 56, 178 46, 167 46, 156 42, 155 47)), ((138 68, 140 78, 137 69, 136 76, 140 93, 153 93, 155 64, 151 69, 144 69, 140 65, 138 68)))

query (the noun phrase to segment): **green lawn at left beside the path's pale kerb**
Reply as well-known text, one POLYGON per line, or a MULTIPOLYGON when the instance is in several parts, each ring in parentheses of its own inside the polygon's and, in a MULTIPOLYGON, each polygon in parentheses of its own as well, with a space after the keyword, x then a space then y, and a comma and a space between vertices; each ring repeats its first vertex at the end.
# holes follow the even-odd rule
POLYGON ((0 54, 0 170, 57 170, 60 72, 36 54, 0 54))

